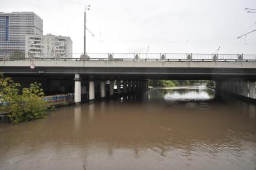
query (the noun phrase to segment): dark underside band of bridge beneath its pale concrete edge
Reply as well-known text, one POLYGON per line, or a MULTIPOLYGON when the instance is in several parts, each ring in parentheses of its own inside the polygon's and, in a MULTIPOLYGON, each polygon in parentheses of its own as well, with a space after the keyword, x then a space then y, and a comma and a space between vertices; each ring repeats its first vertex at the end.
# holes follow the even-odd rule
POLYGON ((5 67, 1 71, 6 76, 56 77, 73 79, 79 73, 82 79, 94 80, 143 80, 143 79, 175 79, 175 80, 255 80, 255 68, 102 68, 102 67, 5 67))

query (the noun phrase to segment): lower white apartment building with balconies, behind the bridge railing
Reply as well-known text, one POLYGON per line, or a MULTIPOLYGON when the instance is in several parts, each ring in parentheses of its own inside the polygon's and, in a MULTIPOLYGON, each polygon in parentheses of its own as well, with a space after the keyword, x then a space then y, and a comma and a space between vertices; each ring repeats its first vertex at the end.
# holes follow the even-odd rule
POLYGON ((26 55, 44 58, 72 58, 72 40, 70 37, 47 35, 26 35, 26 55))

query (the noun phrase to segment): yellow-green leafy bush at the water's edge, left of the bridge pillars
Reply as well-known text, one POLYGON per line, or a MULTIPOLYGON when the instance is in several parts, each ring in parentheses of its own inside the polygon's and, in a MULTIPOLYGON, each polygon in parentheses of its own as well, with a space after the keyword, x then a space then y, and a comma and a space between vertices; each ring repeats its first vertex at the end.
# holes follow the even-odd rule
POLYGON ((46 117, 46 103, 43 101, 43 89, 40 83, 32 83, 29 88, 23 88, 19 94, 19 83, 13 82, 10 77, 4 78, 0 75, 0 95, 5 105, 1 106, 1 111, 8 114, 11 123, 19 123, 38 118, 46 117))

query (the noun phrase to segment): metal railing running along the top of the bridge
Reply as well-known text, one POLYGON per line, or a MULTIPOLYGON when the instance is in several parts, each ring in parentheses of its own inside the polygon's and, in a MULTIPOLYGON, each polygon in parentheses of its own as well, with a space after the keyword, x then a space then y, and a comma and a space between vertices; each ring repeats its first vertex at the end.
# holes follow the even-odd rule
POLYGON ((86 53, 86 55, 83 55, 83 53, 0 52, 0 61, 15 60, 255 62, 256 55, 219 53, 86 53))

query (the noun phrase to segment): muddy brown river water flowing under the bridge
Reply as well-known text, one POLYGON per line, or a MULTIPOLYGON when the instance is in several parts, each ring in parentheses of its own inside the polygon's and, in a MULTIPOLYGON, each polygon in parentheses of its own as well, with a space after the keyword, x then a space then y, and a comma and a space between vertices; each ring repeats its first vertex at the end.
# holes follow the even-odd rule
POLYGON ((0 124, 0 169, 255 169, 255 105, 204 86, 0 124))

